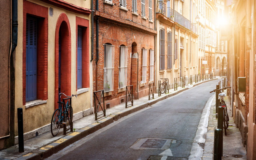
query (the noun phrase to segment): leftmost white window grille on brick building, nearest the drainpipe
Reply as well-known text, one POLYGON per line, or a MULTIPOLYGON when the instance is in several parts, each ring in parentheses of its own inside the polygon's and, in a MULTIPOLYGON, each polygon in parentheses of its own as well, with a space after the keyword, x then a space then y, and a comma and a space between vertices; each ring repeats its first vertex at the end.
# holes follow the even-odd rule
POLYGON ((113 91, 114 49, 113 45, 104 45, 104 92, 113 91))

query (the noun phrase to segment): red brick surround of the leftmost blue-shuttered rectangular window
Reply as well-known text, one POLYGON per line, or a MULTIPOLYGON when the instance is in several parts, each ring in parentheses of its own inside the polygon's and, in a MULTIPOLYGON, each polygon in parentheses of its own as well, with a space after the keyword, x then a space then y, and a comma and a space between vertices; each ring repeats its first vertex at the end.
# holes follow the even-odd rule
POLYGON ((26 104, 26 18, 38 17, 37 39, 37 99, 48 99, 48 8, 23 1, 23 105, 26 104))

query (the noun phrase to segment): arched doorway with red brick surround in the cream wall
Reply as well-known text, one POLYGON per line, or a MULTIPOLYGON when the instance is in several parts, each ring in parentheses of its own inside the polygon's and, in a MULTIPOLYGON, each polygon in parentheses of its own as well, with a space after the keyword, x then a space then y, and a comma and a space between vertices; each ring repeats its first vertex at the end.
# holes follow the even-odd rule
POLYGON ((66 14, 60 14, 55 31, 55 109, 59 93, 71 94, 71 38, 66 14))

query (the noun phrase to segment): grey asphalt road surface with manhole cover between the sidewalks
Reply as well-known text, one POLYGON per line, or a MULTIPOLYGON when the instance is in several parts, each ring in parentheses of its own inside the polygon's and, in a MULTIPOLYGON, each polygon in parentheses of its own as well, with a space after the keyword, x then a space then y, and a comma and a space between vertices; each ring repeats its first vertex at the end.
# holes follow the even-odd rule
POLYGON ((214 94, 209 91, 218 81, 130 114, 47 159, 188 159, 202 111, 214 94), (158 156, 164 151, 171 157, 158 156))

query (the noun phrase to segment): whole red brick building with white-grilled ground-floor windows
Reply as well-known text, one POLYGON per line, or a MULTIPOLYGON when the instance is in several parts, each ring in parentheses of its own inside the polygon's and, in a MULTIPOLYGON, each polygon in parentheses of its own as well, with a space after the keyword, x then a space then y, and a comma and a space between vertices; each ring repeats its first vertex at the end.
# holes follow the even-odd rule
POLYGON ((93 90, 104 90, 106 108, 148 95, 154 81, 154 1, 93 1, 93 90))

